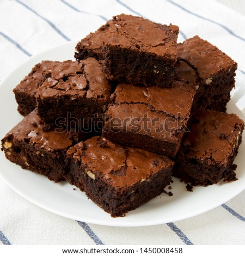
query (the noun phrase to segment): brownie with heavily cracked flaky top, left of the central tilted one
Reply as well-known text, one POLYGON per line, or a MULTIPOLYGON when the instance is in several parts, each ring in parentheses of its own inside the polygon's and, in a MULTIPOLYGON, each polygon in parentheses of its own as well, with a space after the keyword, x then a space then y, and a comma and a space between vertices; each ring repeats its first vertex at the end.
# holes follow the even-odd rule
POLYGON ((96 59, 80 63, 66 60, 49 76, 36 89, 38 115, 46 125, 74 125, 82 129, 102 123, 100 118, 109 103, 112 84, 96 59))

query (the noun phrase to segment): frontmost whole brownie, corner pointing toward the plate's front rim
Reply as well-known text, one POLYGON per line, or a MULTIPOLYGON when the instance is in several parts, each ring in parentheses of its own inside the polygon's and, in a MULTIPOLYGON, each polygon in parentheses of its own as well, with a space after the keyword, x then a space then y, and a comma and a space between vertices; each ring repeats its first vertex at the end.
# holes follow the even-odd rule
POLYGON ((112 217, 124 216, 164 191, 173 162, 142 149, 93 137, 68 150, 66 179, 112 217))

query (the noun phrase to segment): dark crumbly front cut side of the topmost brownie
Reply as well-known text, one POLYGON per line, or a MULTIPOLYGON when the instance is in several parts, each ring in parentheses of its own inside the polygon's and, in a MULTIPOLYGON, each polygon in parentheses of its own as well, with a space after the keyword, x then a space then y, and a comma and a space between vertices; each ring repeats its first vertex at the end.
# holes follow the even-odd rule
POLYGON ((171 88, 177 76, 174 59, 118 46, 107 45, 104 51, 102 68, 109 80, 171 88))

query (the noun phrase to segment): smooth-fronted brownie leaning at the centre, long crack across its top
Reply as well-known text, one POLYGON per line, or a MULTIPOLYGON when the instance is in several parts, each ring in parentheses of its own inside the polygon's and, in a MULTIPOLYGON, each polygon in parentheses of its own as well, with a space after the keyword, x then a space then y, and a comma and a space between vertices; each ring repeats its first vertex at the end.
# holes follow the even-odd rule
POLYGON ((187 130, 194 90, 120 83, 106 112, 103 136, 130 147, 175 156, 187 130))

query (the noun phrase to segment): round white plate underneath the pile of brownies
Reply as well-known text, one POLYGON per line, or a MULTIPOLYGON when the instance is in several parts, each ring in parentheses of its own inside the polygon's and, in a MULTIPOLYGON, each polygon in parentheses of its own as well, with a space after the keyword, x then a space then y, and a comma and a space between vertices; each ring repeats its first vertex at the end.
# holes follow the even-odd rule
MULTIPOLYGON (((0 86, 0 137, 3 138, 21 119, 17 112, 13 88, 28 74, 32 66, 41 60, 73 59, 76 42, 69 42, 41 54, 38 54, 16 68, 9 74, 0 86)), ((237 76, 237 88, 244 91, 242 79, 237 76)), ((234 99, 238 100, 239 92, 235 92, 228 106, 228 112, 236 113, 244 119, 242 112, 236 107, 234 99)), ((242 96, 242 95, 240 95, 242 96)), ((216 206, 235 197, 245 188, 245 139, 236 157, 237 178, 235 182, 195 187, 194 192, 188 192, 186 185, 174 179, 169 197, 162 194, 150 202, 129 212, 126 217, 112 218, 68 182, 56 184, 45 176, 23 170, 21 167, 5 159, 0 153, 0 175, 17 193, 30 202, 55 214, 88 223, 112 226, 145 226, 183 220, 211 210, 216 206)))

